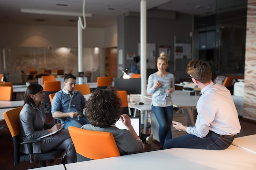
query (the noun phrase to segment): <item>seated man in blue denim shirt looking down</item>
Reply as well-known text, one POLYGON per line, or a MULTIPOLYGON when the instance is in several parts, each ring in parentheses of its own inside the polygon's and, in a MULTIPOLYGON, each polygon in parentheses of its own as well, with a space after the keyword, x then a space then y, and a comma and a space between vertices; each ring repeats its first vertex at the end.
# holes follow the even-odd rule
POLYGON ((83 115, 85 97, 80 91, 74 91, 76 77, 67 74, 64 77, 64 88, 58 91, 52 99, 52 117, 61 119, 64 128, 75 126, 81 128, 88 124, 88 119, 83 115))

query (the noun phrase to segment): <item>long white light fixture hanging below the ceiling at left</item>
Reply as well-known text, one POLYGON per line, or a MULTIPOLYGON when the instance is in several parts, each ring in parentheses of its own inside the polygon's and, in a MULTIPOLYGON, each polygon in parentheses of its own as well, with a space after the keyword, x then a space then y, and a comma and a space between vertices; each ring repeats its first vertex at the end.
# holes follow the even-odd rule
MULTIPOLYGON (((20 9, 23 13, 38 13, 38 14, 48 14, 48 15, 65 15, 65 16, 83 16, 83 13, 78 12, 62 12, 62 11, 47 11, 38 9, 20 9)), ((92 17, 91 13, 85 13, 86 17, 92 17)))

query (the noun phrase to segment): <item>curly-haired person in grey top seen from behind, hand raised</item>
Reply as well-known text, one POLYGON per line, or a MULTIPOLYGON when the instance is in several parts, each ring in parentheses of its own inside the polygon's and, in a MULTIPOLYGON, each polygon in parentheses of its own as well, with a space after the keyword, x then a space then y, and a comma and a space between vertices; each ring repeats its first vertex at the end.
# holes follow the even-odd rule
POLYGON ((90 124, 81 128, 102 132, 111 132, 117 143, 120 155, 139 153, 143 151, 143 143, 133 129, 130 117, 122 112, 122 102, 115 87, 95 89, 86 103, 86 116, 90 124), (115 123, 121 118, 126 129, 115 127, 115 123))

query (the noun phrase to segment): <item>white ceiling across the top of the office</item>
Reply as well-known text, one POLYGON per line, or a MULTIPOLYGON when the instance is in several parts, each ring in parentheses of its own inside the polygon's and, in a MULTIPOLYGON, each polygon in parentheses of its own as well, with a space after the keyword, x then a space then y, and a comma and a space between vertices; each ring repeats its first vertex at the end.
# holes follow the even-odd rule
MULTIPOLYGON (((214 13, 215 1, 146 0, 146 4, 147 9, 173 10, 201 15, 214 13)), ((20 9, 82 13, 83 0, 0 0, 0 23, 77 26, 77 16, 22 13, 20 9)), ((85 0, 85 13, 92 14, 92 17, 86 17, 87 27, 111 26, 117 23, 118 15, 128 11, 140 12, 140 0, 85 0)))

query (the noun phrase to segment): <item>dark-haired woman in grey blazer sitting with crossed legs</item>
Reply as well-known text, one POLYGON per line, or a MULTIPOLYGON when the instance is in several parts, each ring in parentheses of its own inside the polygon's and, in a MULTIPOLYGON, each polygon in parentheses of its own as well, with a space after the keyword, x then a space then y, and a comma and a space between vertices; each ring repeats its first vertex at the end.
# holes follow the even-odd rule
MULTIPOLYGON (((45 122, 44 99, 45 93, 41 85, 31 84, 27 87, 24 106, 20 111, 20 136, 22 141, 40 139, 40 137, 61 128, 60 123, 45 122)), ((33 144, 34 153, 48 152, 53 149, 65 149, 67 151, 67 163, 76 162, 76 150, 67 129, 44 137, 40 143, 33 144)), ((28 153, 27 146, 20 145, 20 152, 28 153)))

